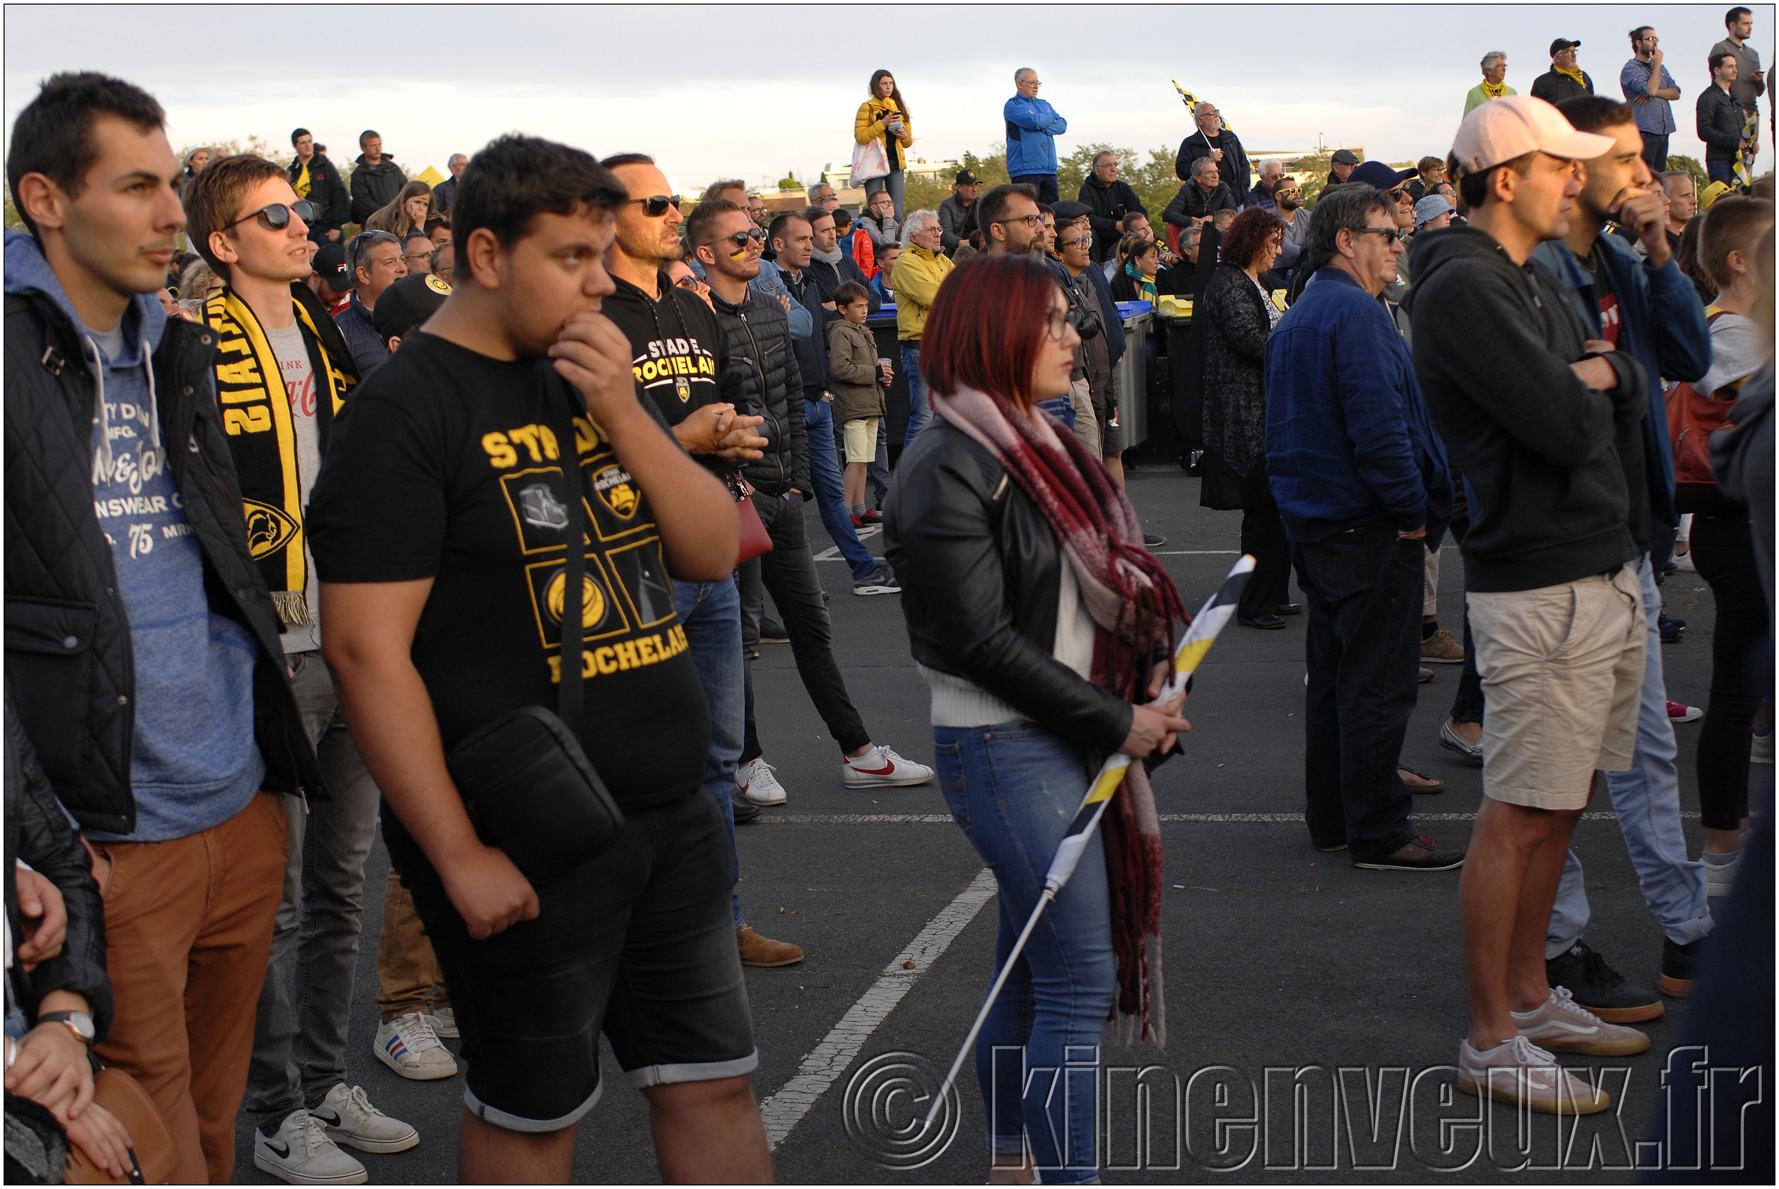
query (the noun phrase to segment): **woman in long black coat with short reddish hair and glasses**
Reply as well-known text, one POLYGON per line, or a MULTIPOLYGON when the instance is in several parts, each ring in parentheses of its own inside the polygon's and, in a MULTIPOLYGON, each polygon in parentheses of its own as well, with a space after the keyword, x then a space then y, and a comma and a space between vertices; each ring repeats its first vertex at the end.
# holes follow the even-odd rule
MULTIPOLYGON (((1204 459, 1199 504, 1242 509, 1242 552, 1252 554, 1236 621, 1283 628, 1290 545, 1267 484, 1267 338, 1279 310, 1260 285, 1284 244, 1284 224, 1270 210, 1249 206, 1222 237, 1220 260, 1194 320, 1204 322, 1204 459)), ((1201 249, 1203 258, 1203 249, 1201 249)))

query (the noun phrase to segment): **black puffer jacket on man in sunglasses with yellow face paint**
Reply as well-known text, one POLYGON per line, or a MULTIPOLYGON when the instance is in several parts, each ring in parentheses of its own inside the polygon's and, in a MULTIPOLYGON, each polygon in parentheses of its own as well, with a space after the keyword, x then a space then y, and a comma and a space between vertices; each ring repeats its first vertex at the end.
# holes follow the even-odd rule
MULTIPOLYGON (((742 463, 742 477, 765 495, 785 495, 792 488, 808 500, 815 495, 809 482, 809 434, 802 424, 802 372, 792 351, 790 319, 772 297, 749 288, 747 301, 738 306, 710 294, 717 322, 728 340, 729 376, 722 377, 722 392, 737 393, 735 404, 765 424, 754 433, 767 440, 761 457, 742 463)), ((820 306, 817 308, 820 326, 820 306)))

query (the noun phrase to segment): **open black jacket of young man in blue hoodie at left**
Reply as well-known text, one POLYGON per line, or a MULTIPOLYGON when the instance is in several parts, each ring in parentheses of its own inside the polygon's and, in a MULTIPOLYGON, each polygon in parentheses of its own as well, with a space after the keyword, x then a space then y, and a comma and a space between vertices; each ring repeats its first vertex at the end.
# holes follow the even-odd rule
MULTIPOLYGON (((167 470, 205 557, 210 611, 247 628, 267 792, 326 796, 302 730, 215 400, 215 331, 173 319, 153 356, 167 470)), ((135 829, 135 655, 93 513, 93 374, 50 297, 5 297, 5 664, 57 799, 85 829, 135 829)))

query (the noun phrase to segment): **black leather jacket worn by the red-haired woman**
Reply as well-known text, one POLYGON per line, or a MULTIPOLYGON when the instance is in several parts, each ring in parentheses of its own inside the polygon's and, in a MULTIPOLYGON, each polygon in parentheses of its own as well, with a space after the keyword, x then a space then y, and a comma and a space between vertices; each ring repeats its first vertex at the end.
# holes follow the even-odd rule
POLYGON ((984 447, 934 420, 902 452, 884 504, 914 660, 962 676, 1098 753, 1131 707, 1051 657, 1062 548, 1044 513, 984 447))

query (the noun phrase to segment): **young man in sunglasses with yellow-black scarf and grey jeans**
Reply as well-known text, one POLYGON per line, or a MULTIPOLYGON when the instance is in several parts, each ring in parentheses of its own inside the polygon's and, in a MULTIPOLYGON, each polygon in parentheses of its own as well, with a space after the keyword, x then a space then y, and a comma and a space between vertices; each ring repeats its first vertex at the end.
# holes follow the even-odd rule
POLYGON ((336 1185, 365 1178, 365 1166, 336 1145, 406 1152, 420 1136, 345 1082, 365 858, 377 837, 379 794, 322 660, 320 584, 304 532, 334 417, 358 386, 340 328, 302 283, 313 251, 310 214, 313 206, 295 196, 285 171, 260 157, 224 157, 185 196, 187 235, 224 281, 203 317, 217 335, 217 395, 247 539, 285 627, 285 664, 327 781, 326 799, 285 797, 285 899, 247 1080, 253 1162, 294 1185, 336 1185), (292 975, 302 988, 297 1002, 292 975))

